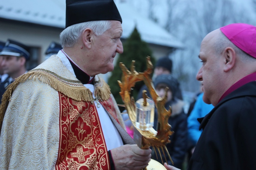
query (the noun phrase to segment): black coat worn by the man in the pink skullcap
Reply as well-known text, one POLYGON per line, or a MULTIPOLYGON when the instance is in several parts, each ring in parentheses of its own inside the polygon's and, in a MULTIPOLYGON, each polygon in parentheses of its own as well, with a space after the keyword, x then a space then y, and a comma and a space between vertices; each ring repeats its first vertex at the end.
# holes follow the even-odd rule
POLYGON ((200 128, 189 170, 255 170, 256 82, 227 95, 203 118, 200 128))

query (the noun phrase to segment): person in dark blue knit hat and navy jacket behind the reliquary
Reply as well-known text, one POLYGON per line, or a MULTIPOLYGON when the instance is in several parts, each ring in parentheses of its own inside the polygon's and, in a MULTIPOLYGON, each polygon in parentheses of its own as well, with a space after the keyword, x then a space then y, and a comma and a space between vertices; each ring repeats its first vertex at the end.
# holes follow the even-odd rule
MULTIPOLYGON (((165 108, 168 110, 169 106, 172 107, 172 114, 168 120, 171 125, 171 130, 174 132, 170 136, 171 143, 166 145, 168 152, 174 162, 176 168, 182 168, 182 163, 185 158, 187 149, 187 116, 183 111, 183 101, 175 97, 175 93, 179 88, 179 82, 171 74, 158 75, 154 81, 154 86, 159 97, 165 97, 165 89, 168 87, 167 100, 165 108)), ((155 109, 154 128, 157 125, 157 109, 155 109)), ((153 153, 152 158, 161 163, 160 155, 156 159, 156 153, 153 153)), ((164 155, 162 154, 162 157, 164 155)), ((168 164, 172 165, 168 160, 168 164)))

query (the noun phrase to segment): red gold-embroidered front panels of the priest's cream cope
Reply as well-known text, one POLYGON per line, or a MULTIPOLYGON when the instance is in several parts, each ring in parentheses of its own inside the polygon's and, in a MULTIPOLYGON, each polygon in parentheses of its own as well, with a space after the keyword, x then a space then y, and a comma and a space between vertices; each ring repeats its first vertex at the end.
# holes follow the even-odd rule
MULTIPOLYGON (((95 105, 75 101, 60 92, 59 100, 60 142, 56 169, 110 169, 95 105)), ((101 103, 116 119, 112 99, 101 103)))

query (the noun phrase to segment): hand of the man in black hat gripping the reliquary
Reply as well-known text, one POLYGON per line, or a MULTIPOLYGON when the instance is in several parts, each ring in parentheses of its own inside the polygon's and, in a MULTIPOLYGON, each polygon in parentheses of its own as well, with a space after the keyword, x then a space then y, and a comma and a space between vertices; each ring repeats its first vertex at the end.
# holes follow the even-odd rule
POLYGON ((141 170, 148 165, 151 149, 140 149, 137 145, 123 145, 111 150, 115 169, 141 170))

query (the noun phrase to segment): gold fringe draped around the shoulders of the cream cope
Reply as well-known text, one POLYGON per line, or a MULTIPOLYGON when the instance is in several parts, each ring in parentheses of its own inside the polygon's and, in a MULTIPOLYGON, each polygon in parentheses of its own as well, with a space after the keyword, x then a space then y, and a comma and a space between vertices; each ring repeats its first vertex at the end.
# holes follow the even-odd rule
MULTIPOLYGON (((8 103, 11 99, 13 91, 16 89, 19 83, 24 83, 26 80, 35 80, 50 85, 55 90, 61 92, 63 95, 70 97, 77 101, 93 101, 93 95, 90 90, 79 83, 79 81, 72 81, 68 79, 62 79, 56 77, 51 71, 44 69, 31 70, 26 74, 21 75, 13 83, 11 83, 2 96, 2 103, 0 105, 0 129, 3 121, 4 113, 8 103), (70 84, 70 85, 69 85, 70 84)), ((108 100, 110 98, 109 85, 103 81, 102 86, 96 86, 96 95, 101 100, 108 100)))

